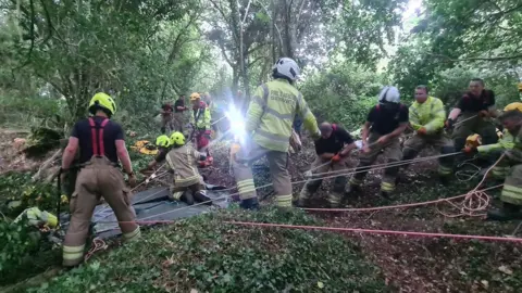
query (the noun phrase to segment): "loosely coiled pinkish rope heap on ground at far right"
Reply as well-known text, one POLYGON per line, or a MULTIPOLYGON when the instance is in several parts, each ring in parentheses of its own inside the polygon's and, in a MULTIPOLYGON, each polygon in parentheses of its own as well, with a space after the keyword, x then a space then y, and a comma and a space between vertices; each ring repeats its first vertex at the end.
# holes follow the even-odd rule
POLYGON ((438 209, 438 212, 442 215, 444 215, 448 218, 456 218, 456 217, 461 217, 461 216, 469 216, 469 217, 484 217, 484 216, 486 216, 486 213, 484 213, 484 211, 487 209, 487 206, 489 205, 490 198, 489 198, 489 195, 487 195, 486 192, 484 192, 484 190, 478 190, 478 189, 482 187, 482 184, 486 180, 489 171, 500 161, 502 161, 504 156, 505 155, 502 154, 497 160, 497 162, 495 162, 495 164, 493 164, 486 170, 486 173, 482 177, 481 182, 478 182, 478 184, 473 190, 471 190, 470 192, 468 192, 465 194, 464 200, 460 204, 450 203, 455 208, 457 208, 459 211, 459 213, 457 213, 457 214, 446 214, 446 213, 443 213, 440 209, 438 209))

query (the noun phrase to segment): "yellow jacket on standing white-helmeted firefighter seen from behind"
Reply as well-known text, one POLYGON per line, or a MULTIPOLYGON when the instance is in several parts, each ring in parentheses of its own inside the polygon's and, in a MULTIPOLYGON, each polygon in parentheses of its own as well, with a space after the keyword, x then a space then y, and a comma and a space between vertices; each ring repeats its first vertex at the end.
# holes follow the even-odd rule
POLYGON ((265 149, 287 152, 296 115, 312 136, 321 135, 302 94, 287 80, 274 79, 256 89, 247 111, 247 133, 265 149))

